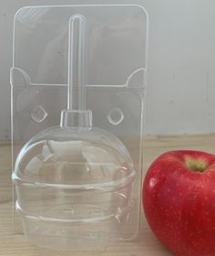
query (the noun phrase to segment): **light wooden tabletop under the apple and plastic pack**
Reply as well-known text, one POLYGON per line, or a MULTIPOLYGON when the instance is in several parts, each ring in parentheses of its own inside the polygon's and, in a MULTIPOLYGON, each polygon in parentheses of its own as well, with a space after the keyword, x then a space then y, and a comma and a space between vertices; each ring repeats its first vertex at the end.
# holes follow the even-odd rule
MULTIPOLYGON (((192 135, 180 137, 147 137, 145 139, 144 169, 158 155, 179 149, 196 149, 215 154, 215 135, 192 135)), ((24 235, 15 233, 12 220, 10 146, 0 146, 0 255, 1 256, 170 256, 151 233, 143 217, 138 239, 109 246, 104 251, 52 251, 30 245, 24 235)))

